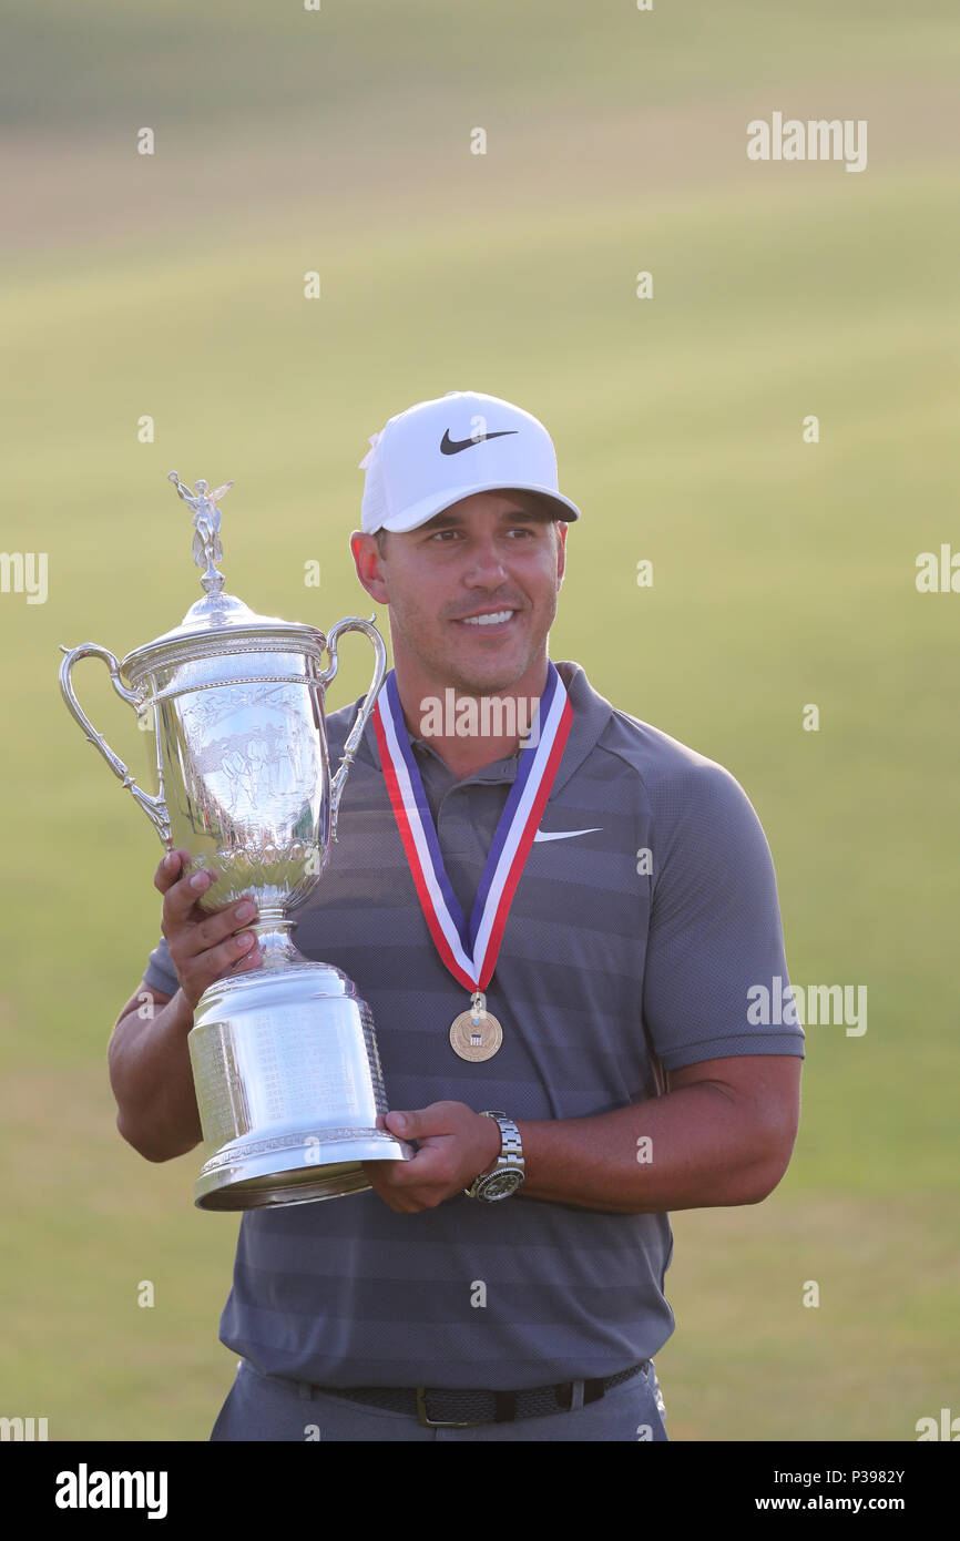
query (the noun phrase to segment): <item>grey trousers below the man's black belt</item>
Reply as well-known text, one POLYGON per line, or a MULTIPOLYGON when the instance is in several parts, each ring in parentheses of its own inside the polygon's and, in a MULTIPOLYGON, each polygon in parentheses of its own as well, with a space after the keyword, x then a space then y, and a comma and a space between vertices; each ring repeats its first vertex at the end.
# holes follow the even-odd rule
POLYGON ((567 1441, 666 1441, 666 1408, 653 1361, 623 1381, 596 1402, 582 1405, 582 1382, 569 1413, 549 1418, 518 1418, 509 1424, 478 1424, 473 1429, 424 1429, 411 1413, 331 1396, 321 1387, 276 1381, 240 1359, 236 1381, 220 1408, 211 1439, 236 1441, 390 1441, 431 1444, 504 1444, 567 1441))

